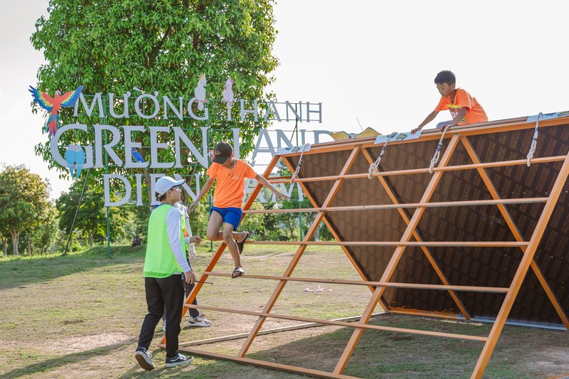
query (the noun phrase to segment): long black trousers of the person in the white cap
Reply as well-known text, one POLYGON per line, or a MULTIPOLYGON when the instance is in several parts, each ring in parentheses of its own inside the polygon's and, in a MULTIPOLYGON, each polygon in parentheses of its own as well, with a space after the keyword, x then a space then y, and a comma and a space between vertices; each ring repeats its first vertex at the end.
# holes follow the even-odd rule
POLYGON ((181 275, 174 274, 165 278, 144 278, 147 295, 148 314, 142 321, 138 346, 150 347, 154 329, 166 312, 166 357, 174 358, 178 353, 178 336, 182 306, 184 304, 184 285, 181 275))

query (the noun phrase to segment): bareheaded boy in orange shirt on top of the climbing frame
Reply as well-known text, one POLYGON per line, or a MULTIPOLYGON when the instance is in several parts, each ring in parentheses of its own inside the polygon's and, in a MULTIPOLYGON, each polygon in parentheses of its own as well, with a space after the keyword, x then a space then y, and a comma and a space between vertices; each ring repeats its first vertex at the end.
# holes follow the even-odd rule
POLYGON ((470 96, 470 94, 462 88, 455 88, 456 83, 457 79, 454 77, 452 71, 445 70, 437 74, 435 84, 441 95, 439 104, 418 127, 411 131, 411 134, 420 131, 422 127, 435 119, 437 114, 442 110, 450 110, 452 120, 439 122, 437 129, 444 128, 445 126, 454 127, 454 125, 488 121, 488 117, 482 105, 477 102, 476 98, 470 96))

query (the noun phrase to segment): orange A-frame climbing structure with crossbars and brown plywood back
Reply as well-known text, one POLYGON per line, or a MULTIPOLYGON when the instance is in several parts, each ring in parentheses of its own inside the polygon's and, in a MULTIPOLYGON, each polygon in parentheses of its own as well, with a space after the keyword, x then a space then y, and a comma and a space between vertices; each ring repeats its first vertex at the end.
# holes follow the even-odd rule
MULTIPOLYGON (((472 378, 482 378, 506 321, 569 329, 569 118, 548 117, 539 122, 523 117, 454 127, 445 134, 432 130, 418 139, 387 144, 374 144, 373 138, 349 139, 276 156, 265 177, 279 159, 291 172, 300 166, 294 182, 314 208, 248 210, 260 191, 257 186, 245 205, 245 217, 312 210, 314 222, 302 241, 249 242, 297 246, 280 277, 247 275, 277 280, 262 311, 199 306, 258 317, 237 356, 191 347, 181 351, 304 375, 348 378, 342 373, 363 331, 382 329, 480 341, 482 353, 472 378), (314 241, 321 222, 335 242, 314 241), (353 263, 361 282, 345 284, 365 285, 371 291, 359 321, 271 312, 291 280, 338 282, 293 276, 309 245, 341 245, 353 263), (487 336, 467 336, 368 324, 378 304, 387 312, 484 320, 493 327, 487 336), (269 317, 346 326, 353 333, 332 372, 247 358, 269 317)), ((271 183, 290 180, 270 178, 271 183)), ((222 252, 223 245, 201 281, 224 275, 214 272, 222 252)), ((262 282, 267 283, 271 282, 262 282)), ((184 312, 192 307, 201 285, 186 300, 184 312)))

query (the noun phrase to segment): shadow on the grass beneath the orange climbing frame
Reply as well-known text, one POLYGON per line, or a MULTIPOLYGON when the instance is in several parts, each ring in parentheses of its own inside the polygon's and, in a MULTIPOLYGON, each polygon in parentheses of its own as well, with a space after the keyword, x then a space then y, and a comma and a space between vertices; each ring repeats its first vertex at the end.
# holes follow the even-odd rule
MULTIPOLYGON (((420 317, 392 315, 380 316, 371 321, 371 324, 477 336, 484 335, 491 328, 488 324, 453 324, 420 317)), ((249 353, 247 358, 332 373, 353 330, 340 328, 307 338, 302 338, 302 331, 284 332, 298 333, 296 336, 301 339, 249 353)), ((279 336, 280 334, 274 333, 270 338, 276 338, 276 341, 284 339, 279 336)), ((255 347, 255 343, 252 347, 255 347)), ((343 374, 358 378, 470 378, 483 347, 484 343, 480 341, 461 338, 368 330, 363 332, 343 374)), ((196 348, 199 349, 200 346, 196 348)), ((212 351, 212 348, 206 347, 204 350, 212 351)), ((505 361, 501 361, 498 355, 494 357, 494 363, 486 369, 485 377, 532 377, 532 373, 524 372, 523 367, 514 365, 511 359, 506 358, 505 361)), ((245 370, 248 373, 246 369, 248 366, 240 365, 240 367, 244 368, 238 369, 239 372, 245 370)), ((268 368, 264 372, 278 373, 268 368)), ((292 373, 286 375, 288 375, 286 378, 301 378, 292 373)), ((215 377, 230 378, 230 376, 215 377)), ((250 375, 247 377, 252 378, 250 375)))

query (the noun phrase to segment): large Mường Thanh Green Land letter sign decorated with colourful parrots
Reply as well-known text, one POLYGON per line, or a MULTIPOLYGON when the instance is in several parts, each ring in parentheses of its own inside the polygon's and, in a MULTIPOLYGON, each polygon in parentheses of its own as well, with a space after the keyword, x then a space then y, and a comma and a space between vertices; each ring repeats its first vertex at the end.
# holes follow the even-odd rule
MULTIPOLYGON (((126 92, 119 97, 116 97, 113 93, 103 95, 97 92, 95 95, 87 96, 87 99, 83 94, 83 86, 78 87, 77 90, 66 92, 63 97, 60 95, 61 92, 57 91, 54 99, 49 97, 46 92, 38 91, 33 87, 31 87, 32 90, 30 92, 41 107, 48 110, 48 112, 52 112, 48 120, 50 125, 48 128, 50 134, 50 154, 55 163, 70 171, 72 178, 78 178, 82 170, 85 171, 85 169, 90 168, 102 169, 107 164, 125 169, 125 171, 137 171, 133 173, 134 175, 130 175, 134 176, 136 185, 134 196, 132 179, 129 180, 126 175, 122 174, 103 174, 105 206, 118 206, 126 203, 135 205, 155 203, 156 200, 154 198, 149 198, 147 202, 142 199, 144 174, 140 173, 140 169, 154 169, 153 171, 156 171, 156 169, 182 169, 184 159, 180 154, 181 149, 190 151, 192 160, 207 168, 209 166, 210 154, 208 148, 208 133, 210 129, 208 127, 199 127, 201 129, 202 143, 201 146, 195 146, 182 127, 129 125, 132 122, 125 122, 124 125, 117 127, 104 123, 104 120, 109 117, 125 120, 137 117, 145 121, 148 120, 147 122, 153 119, 179 119, 182 121, 184 118, 187 119, 189 117, 200 122, 209 120, 211 107, 221 105, 227 110, 225 120, 228 122, 233 121, 232 109, 234 107, 238 107, 239 119, 237 121, 240 122, 322 122, 321 103, 236 100, 233 95, 233 80, 231 78, 228 78, 225 82, 223 99, 220 102, 208 102, 206 85, 206 75, 200 75, 194 89, 194 96, 190 100, 184 99, 184 97, 161 96, 159 92, 143 93, 137 87, 134 87, 134 90, 139 92, 137 97, 133 97, 131 92, 126 92), (59 107, 55 105, 55 100, 60 102, 59 107), (197 107, 192 107, 194 103, 197 103, 197 107), (105 105, 108 105, 107 112, 105 112, 105 105), (74 117, 86 114, 87 117, 99 117, 101 123, 92 125, 65 124, 60 127, 56 112, 61 106, 74 106, 74 117), (54 112, 55 116, 53 115, 54 112), (60 146, 60 139, 64 134, 70 133, 73 136, 77 131, 92 132, 94 134, 92 139, 95 143, 92 146, 81 146, 78 143, 60 146), (136 132, 145 132, 145 134, 149 135, 147 146, 143 147, 142 142, 134 140, 136 132), (168 143, 161 141, 160 137, 164 136, 164 134, 170 135, 171 141, 168 143), (174 146, 175 152, 174 160, 159 161, 159 151, 161 149, 172 149, 172 146, 174 146), (140 154, 142 149, 149 151, 149 154, 146 154, 146 161, 140 154), (116 188, 117 183, 122 188, 116 188), (119 201, 110 201, 111 192, 122 193, 122 198, 119 201)), ((232 128, 231 131, 235 156, 239 157, 240 129, 232 128)), ((303 145, 307 142, 319 143, 322 134, 330 134, 327 130, 307 131, 306 129, 299 129, 296 132, 297 139, 300 139, 299 143, 303 145)), ((292 148, 294 144, 291 139, 292 137, 287 137, 282 129, 260 129, 260 134, 255 142, 255 149, 250 158, 251 166, 255 166, 255 161, 259 161, 263 154, 270 154, 272 157, 277 153, 277 149, 282 147, 292 148)), ((68 140, 68 138, 65 138, 65 140, 68 140)), ((154 192, 156 180, 164 175, 149 174, 150 193, 154 192)), ((181 178, 179 174, 174 174, 174 176, 177 179, 181 178)), ((187 184, 184 184, 184 189, 192 199, 195 199, 200 191, 200 174, 195 174, 195 176, 196 188, 190 188, 187 184)), ((285 188, 283 184, 280 186, 284 192, 292 192, 293 186, 289 186, 289 188, 285 188)), ((247 188, 249 187, 250 183, 247 185, 247 188)), ((302 191, 299 191, 300 193, 302 191)), ((299 196, 302 196, 302 194, 299 196)))

